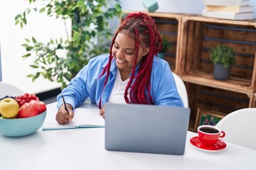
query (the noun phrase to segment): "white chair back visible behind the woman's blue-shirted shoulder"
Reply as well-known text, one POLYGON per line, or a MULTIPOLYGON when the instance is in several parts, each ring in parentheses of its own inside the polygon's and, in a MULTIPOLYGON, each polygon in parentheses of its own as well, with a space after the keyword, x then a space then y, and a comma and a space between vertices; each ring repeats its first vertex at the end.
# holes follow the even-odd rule
POLYGON ((181 77, 178 77, 178 75, 175 73, 173 73, 173 75, 177 86, 178 94, 181 96, 181 99, 184 103, 184 107, 188 108, 188 93, 186 91, 186 86, 181 77))

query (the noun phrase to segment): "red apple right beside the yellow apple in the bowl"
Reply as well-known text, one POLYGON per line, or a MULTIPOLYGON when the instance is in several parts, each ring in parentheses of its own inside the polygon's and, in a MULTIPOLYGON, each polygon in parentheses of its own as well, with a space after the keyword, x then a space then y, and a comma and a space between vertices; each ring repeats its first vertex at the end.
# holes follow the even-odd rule
POLYGON ((37 109, 31 103, 24 103, 18 111, 18 118, 29 118, 37 115, 37 109))

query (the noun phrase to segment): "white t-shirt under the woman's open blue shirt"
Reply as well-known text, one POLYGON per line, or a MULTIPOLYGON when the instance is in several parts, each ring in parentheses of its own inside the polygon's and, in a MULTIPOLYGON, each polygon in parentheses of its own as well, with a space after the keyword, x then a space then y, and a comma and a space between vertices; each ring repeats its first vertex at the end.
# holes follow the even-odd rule
MULTIPOLYGON (((128 82, 129 82, 129 79, 122 81, 119 69, 117 69, 117 77, 114 81, 114 86, 111 91, 110 98, 108 100, 109 103, 120 103, 120 104, 126 103, 126 101, 124 100, 124 91, 128 82)), ((129 94, 129 91, 128 91, 128 94, 129 94)), ((128 95, 128 99, 129 99, 129 95, 128 95)))

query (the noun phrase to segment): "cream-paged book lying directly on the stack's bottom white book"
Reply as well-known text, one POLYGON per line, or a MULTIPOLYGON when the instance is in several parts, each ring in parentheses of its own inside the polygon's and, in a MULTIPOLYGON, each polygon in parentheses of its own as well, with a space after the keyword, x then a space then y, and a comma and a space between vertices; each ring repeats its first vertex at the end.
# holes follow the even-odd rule
POLYGON ((233 13, 253 12, 252 6, 206 6, 207 11, 225 11, 233 13))

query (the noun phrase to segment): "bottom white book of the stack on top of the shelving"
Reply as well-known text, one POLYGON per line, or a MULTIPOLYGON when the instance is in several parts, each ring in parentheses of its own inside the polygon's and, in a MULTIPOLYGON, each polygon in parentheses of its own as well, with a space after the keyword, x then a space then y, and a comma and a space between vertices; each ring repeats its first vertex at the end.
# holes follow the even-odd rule
POLYGON ((253 13, 231 13, 225 11, 207 11, 206 9, 203 9, 202 16, 230 20, 250 20, 253 17, 253 13))

